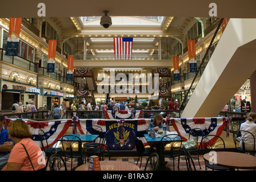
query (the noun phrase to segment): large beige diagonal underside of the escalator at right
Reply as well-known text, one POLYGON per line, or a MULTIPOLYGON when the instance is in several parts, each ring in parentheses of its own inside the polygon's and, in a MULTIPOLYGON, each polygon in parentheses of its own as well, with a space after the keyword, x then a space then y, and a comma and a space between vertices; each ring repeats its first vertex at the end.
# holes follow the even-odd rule
POLYGON ((181 118, 216 117, 256 69, 256 19, 230 19, 181 118))

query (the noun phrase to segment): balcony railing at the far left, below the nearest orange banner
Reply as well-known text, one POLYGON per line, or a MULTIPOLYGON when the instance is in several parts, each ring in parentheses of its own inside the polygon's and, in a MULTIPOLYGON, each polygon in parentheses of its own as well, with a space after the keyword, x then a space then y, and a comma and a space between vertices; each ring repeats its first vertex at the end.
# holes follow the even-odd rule
POLYGON ((35 63, 29 60, 23 59, 22 57, 19 57, 19 56, 6 56, 5 49, 3 48, 0 48, 0 60, 13 65, 17 65, 18 67, 21 67, 33 72, 37 72, 37 66, 35 65, 35 63))

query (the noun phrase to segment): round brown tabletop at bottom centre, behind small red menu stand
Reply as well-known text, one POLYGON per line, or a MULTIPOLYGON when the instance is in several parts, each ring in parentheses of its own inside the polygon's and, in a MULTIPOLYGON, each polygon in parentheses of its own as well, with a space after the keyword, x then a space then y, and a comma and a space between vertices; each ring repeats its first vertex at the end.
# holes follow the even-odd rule
MULTIPOLYGON (((103 160, 99 162, 101 171, 139 171, 136 164, 116 160, 103 160)), ((75 171, 88 171, 89 163, 78 166, 75 171)))

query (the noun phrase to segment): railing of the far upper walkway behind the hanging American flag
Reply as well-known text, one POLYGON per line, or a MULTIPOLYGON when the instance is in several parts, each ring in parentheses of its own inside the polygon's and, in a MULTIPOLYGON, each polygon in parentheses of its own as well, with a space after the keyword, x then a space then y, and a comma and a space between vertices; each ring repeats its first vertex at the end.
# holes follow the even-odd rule
MULTIPOLYGON (((115 55, 86 55, 86 60, 159 60, 159 55, 131 55, 117 57, 115 55)), ((83 55, 74 55, 74 60, 84 60, 83 55)), ((161 60, 171 60, 170 55, 161 55, 161 60)))

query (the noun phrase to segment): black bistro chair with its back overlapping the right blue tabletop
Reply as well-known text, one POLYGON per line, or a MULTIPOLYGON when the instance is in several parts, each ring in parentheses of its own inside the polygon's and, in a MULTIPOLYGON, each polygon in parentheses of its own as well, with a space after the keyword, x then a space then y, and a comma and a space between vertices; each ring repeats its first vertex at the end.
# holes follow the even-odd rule
POLYGON ((178 170, 179 170, 181 146, 182 146, 182 138, 180 135, 169 134, 169 135, 163 136, 163 138, 161 139, 161 156, 163 158, 173 158, 173 170, 175 170, 174 162, 176 158, 178 158, 176 161, 178 161, 178 170), (167 147, 170 147, 170 151, 165 150, 166 145, 167 147))

